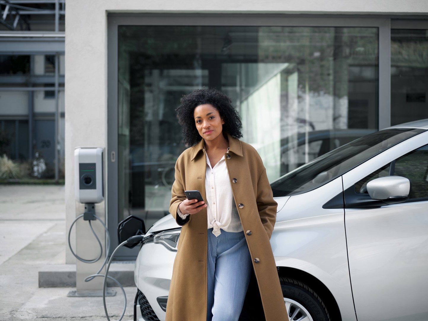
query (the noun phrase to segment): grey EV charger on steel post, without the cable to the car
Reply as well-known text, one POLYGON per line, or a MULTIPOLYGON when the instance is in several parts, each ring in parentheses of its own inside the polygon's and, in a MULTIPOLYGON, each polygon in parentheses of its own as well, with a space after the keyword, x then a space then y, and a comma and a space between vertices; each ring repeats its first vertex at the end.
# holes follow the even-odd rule
MULTIPOLYGON (((68 231, 68 243, 71 252, 77 258, 76 290, 70 291, 68 296, 102 296, 103 278, 88 276, 102 273, 108 255, 106 238, 108 230, 107 224, 104 223, 104 149, 100 147, 74 149, 74 186, 76 208, 80 214, 68 231), (70 233, 74 223, 75 252, 70 244, 70 233)), ((113 290, 105 292, 106 296, 115 294, 116 291, 113 290)))

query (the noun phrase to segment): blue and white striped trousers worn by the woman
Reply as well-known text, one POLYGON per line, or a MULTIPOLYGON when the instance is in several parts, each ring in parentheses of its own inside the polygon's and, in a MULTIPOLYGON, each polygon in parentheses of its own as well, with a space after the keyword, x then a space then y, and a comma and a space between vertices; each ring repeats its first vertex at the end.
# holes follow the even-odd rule
POLYGON ((207 321, 238 321, 250 282, 250 252, 244 232, 226 232, 216 237, 208 229, 207 321))

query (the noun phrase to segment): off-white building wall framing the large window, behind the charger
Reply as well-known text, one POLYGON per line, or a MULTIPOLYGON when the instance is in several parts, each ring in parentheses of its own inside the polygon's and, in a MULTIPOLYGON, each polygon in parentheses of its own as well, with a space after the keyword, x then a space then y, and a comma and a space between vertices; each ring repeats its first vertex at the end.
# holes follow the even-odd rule
MULTIPOLYGON (((76 206, 74 200, 74 148, 76 146, 107 147, 107 14, 109 12, 426 15, 428 1, 73 0, 68 2, 65 17, 65 50, 67 55, 65 62, 67 86, 65 93, 65 167, 67 168, 65 173, 65 202, 67 231, 74 218, 83 213, 82 207, 76 206)), ((106 151, 105 155, 107 155, 106 159, 110 158, 109 151, 106 151)), ((106 177, 106 184, 108 184, 108 177, 106 177)), ((105 194, 107 194, 106 192, 105 194)), ((106 199, 108 199, 108 195, 106 195, 106 199)), ((107 206, 105 207, 107 208, 107 206)), ((99 208, 103 209, 104 205, 99 208)), ((104 215, 102 218, 104 219, 104 215)), ((66 258, 67 263, 74 262, 74 257, 68 249, 66 258)))

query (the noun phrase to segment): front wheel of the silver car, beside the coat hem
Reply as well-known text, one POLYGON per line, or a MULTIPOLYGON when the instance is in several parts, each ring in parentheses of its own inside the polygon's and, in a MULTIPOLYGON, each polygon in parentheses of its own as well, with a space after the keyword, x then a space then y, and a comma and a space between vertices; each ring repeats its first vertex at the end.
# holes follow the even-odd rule
POLYGON ((282 295, 290 321, 329 321, 321 298, 306 284, 280 277, 282 295))

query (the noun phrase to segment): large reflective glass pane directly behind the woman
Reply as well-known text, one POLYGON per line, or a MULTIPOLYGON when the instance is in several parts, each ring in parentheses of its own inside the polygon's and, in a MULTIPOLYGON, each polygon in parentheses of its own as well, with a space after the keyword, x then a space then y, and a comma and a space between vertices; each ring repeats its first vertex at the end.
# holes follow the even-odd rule
POLYGON ((377 130, 377 28, 119 26, 119 220, 168 214, 182 95, 216 87, 270 181, 377 130))

